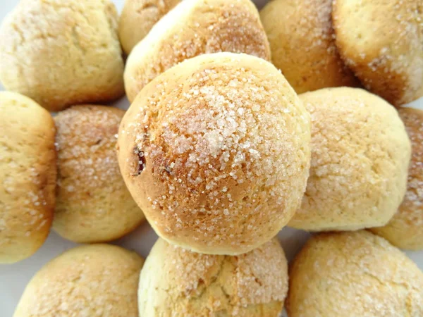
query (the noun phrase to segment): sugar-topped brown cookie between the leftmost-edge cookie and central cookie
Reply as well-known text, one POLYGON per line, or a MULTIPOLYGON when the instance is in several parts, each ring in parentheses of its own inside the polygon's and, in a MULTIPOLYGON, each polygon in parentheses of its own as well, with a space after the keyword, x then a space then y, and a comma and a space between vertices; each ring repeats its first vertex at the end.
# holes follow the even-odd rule
POLYGON ((73 106, 54 118, 59 175, 53 228, 68 240, 115 240, 144 220, 116 158, 124 113, 107 106, 73 106))

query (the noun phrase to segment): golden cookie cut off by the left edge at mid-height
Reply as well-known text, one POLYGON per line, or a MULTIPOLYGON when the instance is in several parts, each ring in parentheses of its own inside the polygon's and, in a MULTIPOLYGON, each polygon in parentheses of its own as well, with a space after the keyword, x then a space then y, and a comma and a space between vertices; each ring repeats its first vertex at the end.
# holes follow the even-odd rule
POLYGON ((0 263, 14 263, 49 235, 56 129, 50 113, 14 92, 0 92, 0 113, 0 263))

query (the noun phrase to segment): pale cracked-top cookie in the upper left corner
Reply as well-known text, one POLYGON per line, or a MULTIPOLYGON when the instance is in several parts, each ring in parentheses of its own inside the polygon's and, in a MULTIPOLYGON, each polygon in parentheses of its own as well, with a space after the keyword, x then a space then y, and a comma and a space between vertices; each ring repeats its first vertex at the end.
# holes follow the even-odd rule
POLYGON ((21 0, 0 27, 0 81, 49 111, 123 94, 109 0, 21 0))

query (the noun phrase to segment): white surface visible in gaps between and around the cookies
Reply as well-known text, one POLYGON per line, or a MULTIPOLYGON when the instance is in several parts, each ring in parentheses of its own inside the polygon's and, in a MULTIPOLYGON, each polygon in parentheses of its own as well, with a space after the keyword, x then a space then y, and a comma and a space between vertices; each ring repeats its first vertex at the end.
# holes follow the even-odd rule
MULTIPOLYGON (((75 0, 78 1, 78 0, 75 0)), ((119 11, 123 6, 124 0, 114 0, 119 11)), ((255 3, 261 7, 266 0, 256 0, 255 3)), ((18 0, 0 0, 0 20, 18 4, 18 0)), ((0 39, 1 41, 1 39, 0 39)), ((0 85, 0 89, 3 89, 0 85)), ((116 103, 120 108, 128 107, 128 101, 121 99, 116 103)), ((413 102, 410 106, 423 109, 423 98, 413 102)), ((0 131, 1 133, 1 131, 0 131)), ((286 252, 288 260, 292 259, 302 244, 307 240, 308 234, 291 228, 284 228, 279 232, 279 240, 282 242, 283 249, 286 252)), ((148 255, 149 249, 157 239, 157 235, 149 227, 148 223, 144 223, 135 232, 113 242, 128 249, 134 249, 144 258, 148 255)), ((66 249, 75 247, 77 244, 63 240, 56 233, 51 232, 49 238, 37 253, 19 263, 13 265, 0 264, 0 317, 11 317, 15 310, 16 304, 20 299, 27 282, 41 268, 44 263, 61 254, 66 249)), ((423 270, 423 251, 406 252, 410 258, 417 263, 423 270)))

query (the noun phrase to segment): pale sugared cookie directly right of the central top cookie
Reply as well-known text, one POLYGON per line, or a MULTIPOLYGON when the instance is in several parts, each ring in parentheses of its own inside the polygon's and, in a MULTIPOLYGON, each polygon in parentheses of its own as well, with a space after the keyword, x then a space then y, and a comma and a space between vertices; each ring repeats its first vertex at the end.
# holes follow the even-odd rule
POLYGON ((289 225, 328 231, 388 223, 403 201, 411 153, 396 109, 347 87, 300 99, 312 117, 312 162, 302 205, 289 225))

